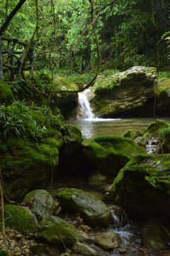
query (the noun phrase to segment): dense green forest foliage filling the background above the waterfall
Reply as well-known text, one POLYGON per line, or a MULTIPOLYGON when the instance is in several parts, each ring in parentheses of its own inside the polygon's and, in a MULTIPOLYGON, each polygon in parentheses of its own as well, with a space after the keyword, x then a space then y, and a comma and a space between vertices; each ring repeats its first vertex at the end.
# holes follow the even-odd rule
MULTIPOLYGON (((168 0, 93 1, 96 33, 103 70, 125 70, 133 65, 169 71, 170 4, 168 0), (98 9, 101 9, 100 15, 98 9), (157 47, 158 46, 158 47, 157 47)), ((0 2, 0 22, 4 23, 18 1, 0 2)), ((35 69, 54 72, 87 73, 96 67, 96 40, 92 28, 79 36, 91 23, 91 5, 85 0, 27 0, 9 23, 4 36, 29 40, 38 18, 34 38, 35 69), (79 42, 77 43, 77 39, 79 42), (72 52, 77 44, 75 54, 72 52), (50 57, 49 57, 50 56, 50 57)))

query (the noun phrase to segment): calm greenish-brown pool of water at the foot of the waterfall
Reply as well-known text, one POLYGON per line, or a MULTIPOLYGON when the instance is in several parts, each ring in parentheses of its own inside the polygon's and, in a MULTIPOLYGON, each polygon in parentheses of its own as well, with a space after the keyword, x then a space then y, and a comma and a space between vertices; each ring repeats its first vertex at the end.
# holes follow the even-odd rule
MULTIPOLYGON (((164 119, 170 122, 170 118, 164 119)), ((81 119, 67 121, 77 126, 84 138, 98 137, 103 135, 122 135, 127 129, 140 129, 144 132, 154 118, 132 118, 132 119, 81 119)))

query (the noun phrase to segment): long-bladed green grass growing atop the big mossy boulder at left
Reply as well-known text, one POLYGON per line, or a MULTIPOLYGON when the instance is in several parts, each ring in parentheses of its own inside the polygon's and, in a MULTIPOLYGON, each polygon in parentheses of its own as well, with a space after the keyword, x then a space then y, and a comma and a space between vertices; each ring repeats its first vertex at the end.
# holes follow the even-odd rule
POLYGON ((51 125, 59 124, 57 116, 47 107, 28 107, 24 101, 15 101, 8 107, 1 105, 0 117, 0 129, 4 138, 13 135, 41 140, 49 136, 45 126, 47 118, 50 119, 51 125))

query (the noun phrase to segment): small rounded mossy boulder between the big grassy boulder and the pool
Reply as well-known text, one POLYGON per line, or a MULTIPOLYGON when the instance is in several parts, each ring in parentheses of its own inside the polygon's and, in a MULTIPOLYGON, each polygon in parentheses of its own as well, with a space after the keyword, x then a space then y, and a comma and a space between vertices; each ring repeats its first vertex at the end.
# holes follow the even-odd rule
POLYGON ((81 131, 74 125, 67 124, 62 127, 62 135, 64 137, 62 152, 67 156, 74 154, 74 152, 81 146, 81 131))

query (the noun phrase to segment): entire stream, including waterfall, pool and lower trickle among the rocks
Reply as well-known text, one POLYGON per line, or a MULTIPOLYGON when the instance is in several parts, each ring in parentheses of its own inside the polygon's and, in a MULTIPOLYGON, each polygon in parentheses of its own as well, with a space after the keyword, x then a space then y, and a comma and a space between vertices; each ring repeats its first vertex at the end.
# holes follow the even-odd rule
MULTIPOLYGON (((142 132, 145 132, 145 129, 149 124, 154 122, 154 118, 117 118, 117 119, 101 119, 95 117, 94 113, 91 110, 88 100, 89 89, 84 92, 79 92, 79 115, 77 120, 67 121, 67 124, 73 124, 81 130, 84 139, 89 139, 91 137, 98 137, 103 135, 122 135, 127 129, 139 129, 142 132)), ((162 119, 162 118, 159 118, 162 119)), ((163 118, 164 121, 169 122, 169 118, 163 118)), ((154 142, 157 144, 157 142, 154 142)), ((148 144, 149 154, 152 151, 149 151, 150 144, 148 144)), ((60 186, 67 188, 80 188, 84 191, 88 191, 97 198, 101 199, 108 208, 111 210, 113 215, 113 225, 110 225, 109 228, 101 229, 96 228, 89 231, 89 234, 94 238, 98 233, 104 233, 107 231, 113 231, 120 235, 121 243, 120 248, 115 249, 112 252, 107 252, 102 250, 100 247, 96 246, 92 240, 91 247, 94 247, 98 251, 98 255, 102 256, 117 256, 117 255, 170 255, 166 250, 146 250, 142 247, 142 233, 140 230, 140 225, 132 222, 128 219, 124 210, 120 209, 118 206, 114 206, 113 203, 109 200, 109 193, 107 193, 103 188, 104 186, 90 186, 87 181, 69 180, 61 181, 54 186, 54 191, 60 186), (120 210, 118 210, 120 209, 120 210), (118 214, 118 212, 120 214, 118 214)), ((107 184, 104 184, 107 186, 107 184)), ((111 184, 109 184, 111 185, 111 184)), ((52 192, 52 191, 51 191, 52 192)))

